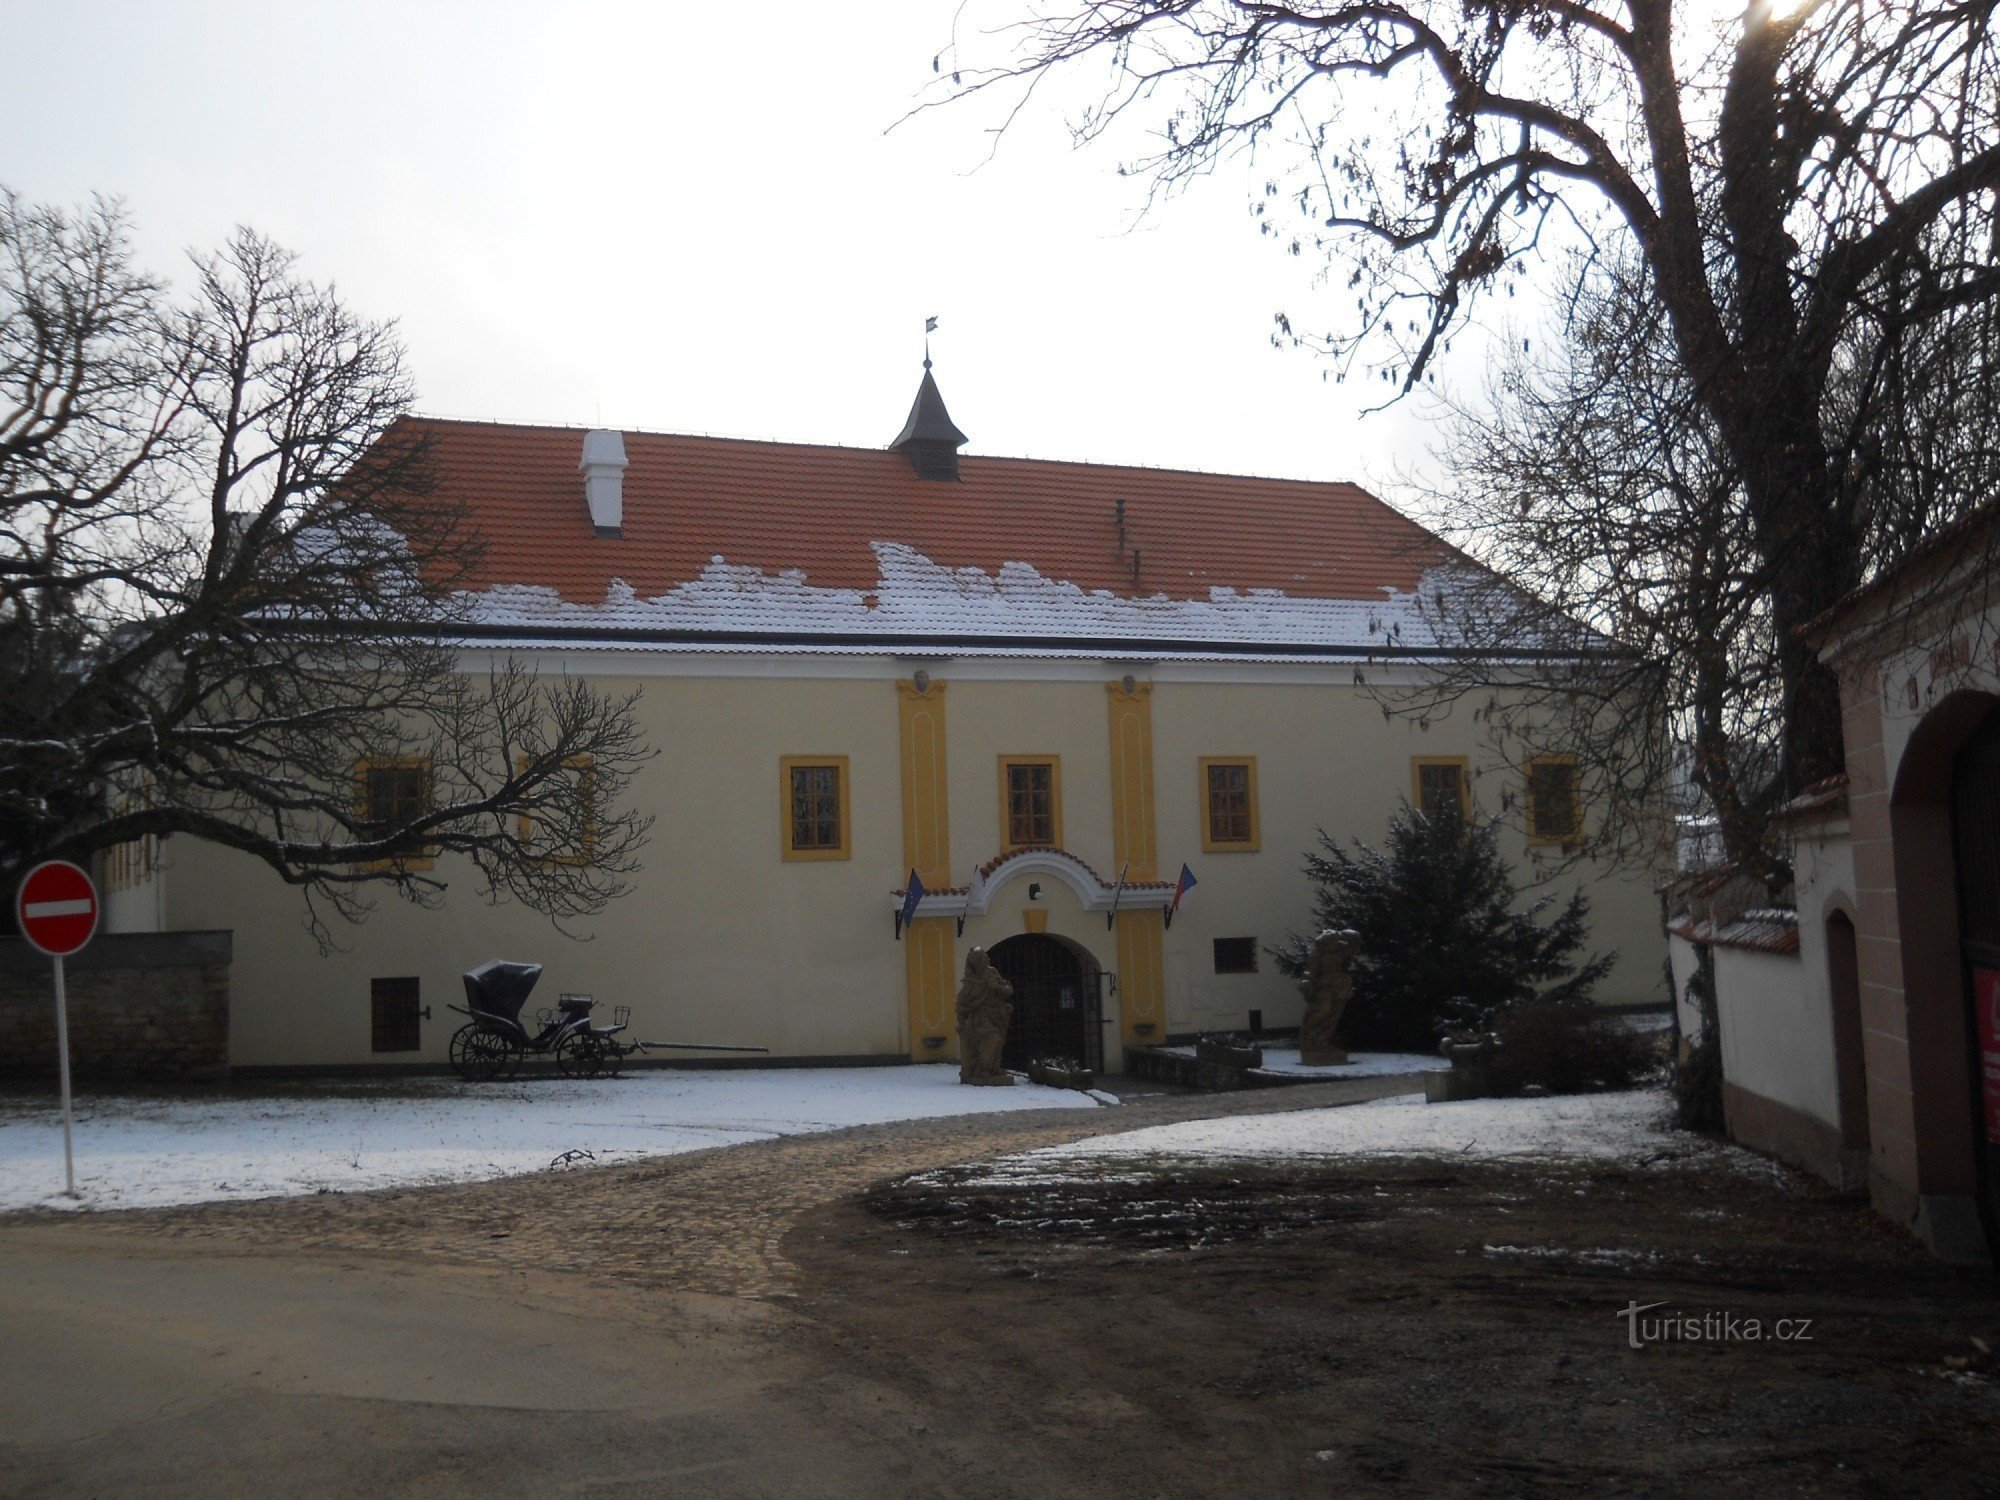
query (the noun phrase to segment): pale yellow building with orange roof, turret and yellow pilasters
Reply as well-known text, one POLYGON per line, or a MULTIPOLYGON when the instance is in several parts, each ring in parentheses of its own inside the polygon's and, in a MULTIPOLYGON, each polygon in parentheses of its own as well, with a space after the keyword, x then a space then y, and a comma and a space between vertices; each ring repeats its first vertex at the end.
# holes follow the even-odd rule
MULTIPOLYGON (((1468 716, 1382 712, 1436 670, 1420 592, 1466 562, 1356 486, 962 456, 928 362, 886 450, 410 424, 484 540, 464 668, 640 690, 644 870, 586 942, 468 870, 320 954, 296 892, 174 838, 110 926, 234 932, 238 1068, 440 1064, 460 972, 496 956, 642 1038, 950 1060, 978 944, 1016 984, 1010 1060, 1116 1070, 1298 1024, 1270 948, 1310 922, 1316 830, 1528 798, 1468 716)), ((1620 952, 1600 1000, 1662 1002, 1650 878, 1582 878, 1620 952)))

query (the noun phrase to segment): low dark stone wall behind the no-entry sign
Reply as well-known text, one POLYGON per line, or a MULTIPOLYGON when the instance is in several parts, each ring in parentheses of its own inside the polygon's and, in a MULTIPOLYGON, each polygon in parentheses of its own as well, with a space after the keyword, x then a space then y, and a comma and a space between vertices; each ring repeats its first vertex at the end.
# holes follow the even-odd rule
MULTIPOLYGON (((72 1076, 228 1078, 230 938, 116 932, 66 958, 72 1076)), ((0 942, 0 1078, 56 1080, 52 964, 26 942, 0 942)))

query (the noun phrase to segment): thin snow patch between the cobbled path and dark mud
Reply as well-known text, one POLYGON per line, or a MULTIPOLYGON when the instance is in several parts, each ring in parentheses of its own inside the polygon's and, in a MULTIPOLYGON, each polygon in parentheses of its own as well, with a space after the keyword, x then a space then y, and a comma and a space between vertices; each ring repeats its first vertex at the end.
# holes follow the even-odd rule
MULTIPOLYGON (((1672 1130, 1660 1090, 1558 1098, 1424 1104, 1388 1098, 1330 1110, 1238 1114, 1224 1120, 1130 1130, 1070 1146, 1046 1146, 992 1164, 978 1182, 1048 1182, 1110 1168, 1174 1162, 1332 1160, 1346 1156, 1440 1156, 1450 1160, 1624 1160, 1666 1166, 1712 1156, 1700 1136, 1672 1130)), ((1754 1158, 1748 1158, 1754 1160, 1754 1158)))

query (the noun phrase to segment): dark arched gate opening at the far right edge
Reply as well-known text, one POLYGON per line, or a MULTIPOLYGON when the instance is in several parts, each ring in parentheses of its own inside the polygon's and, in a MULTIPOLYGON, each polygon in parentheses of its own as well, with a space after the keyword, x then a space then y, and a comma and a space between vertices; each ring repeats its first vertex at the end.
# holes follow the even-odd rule
POLYGON ((1952 862, 1980 1218, 2000 1250, 2000 708, 1952 760, 1952 862))

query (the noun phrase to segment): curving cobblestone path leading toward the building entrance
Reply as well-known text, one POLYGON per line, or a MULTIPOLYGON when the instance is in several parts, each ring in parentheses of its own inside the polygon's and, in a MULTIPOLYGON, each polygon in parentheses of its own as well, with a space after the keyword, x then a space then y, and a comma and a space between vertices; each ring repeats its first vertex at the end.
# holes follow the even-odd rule
POLYGON ((790 1290, 780 1242, 792 1220, 882 1178, 1176 1120, 1358 1104, 1412 1086, 1410 1076, 1356 1078, 1242 1094, 1142 1094, 1102 1110, 900 1120, 442 1188, 112 1212, 92 1216, 88 1230, 210 1242, 222 1252, 426 1258, 770 1298, 790 1290))

